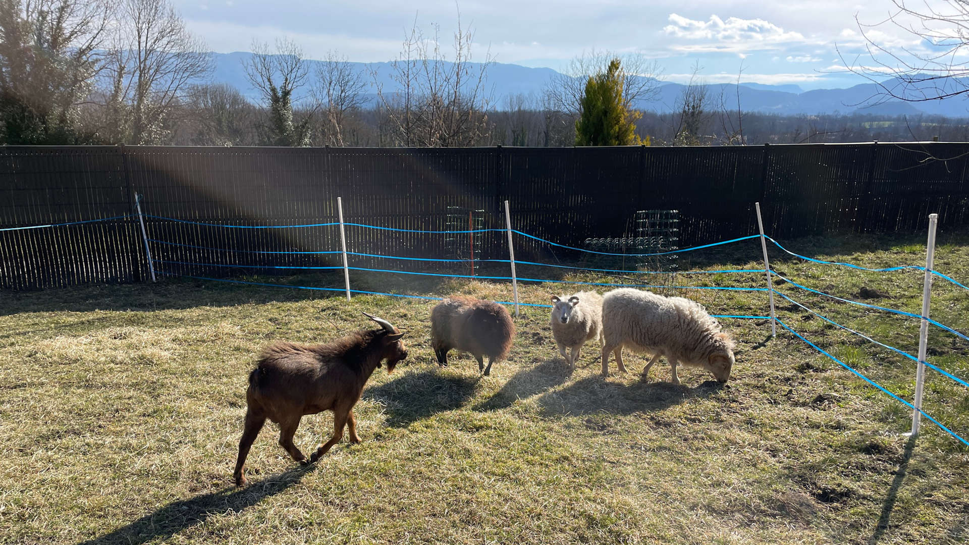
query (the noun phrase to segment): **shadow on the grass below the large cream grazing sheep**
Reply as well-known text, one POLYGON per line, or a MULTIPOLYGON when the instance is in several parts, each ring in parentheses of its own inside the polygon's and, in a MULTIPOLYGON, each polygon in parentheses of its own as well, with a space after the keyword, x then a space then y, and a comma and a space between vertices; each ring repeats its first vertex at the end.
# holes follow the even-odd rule
POLYGON ((631 414, 661 410, 689 399, 708 398, 726 387, 715 380, 707 380, 696 388, 642 380, 620 384, 593 375, 561 390, 548 392, 539 398, 539 404, 543 412, 550 415, 631 414))

